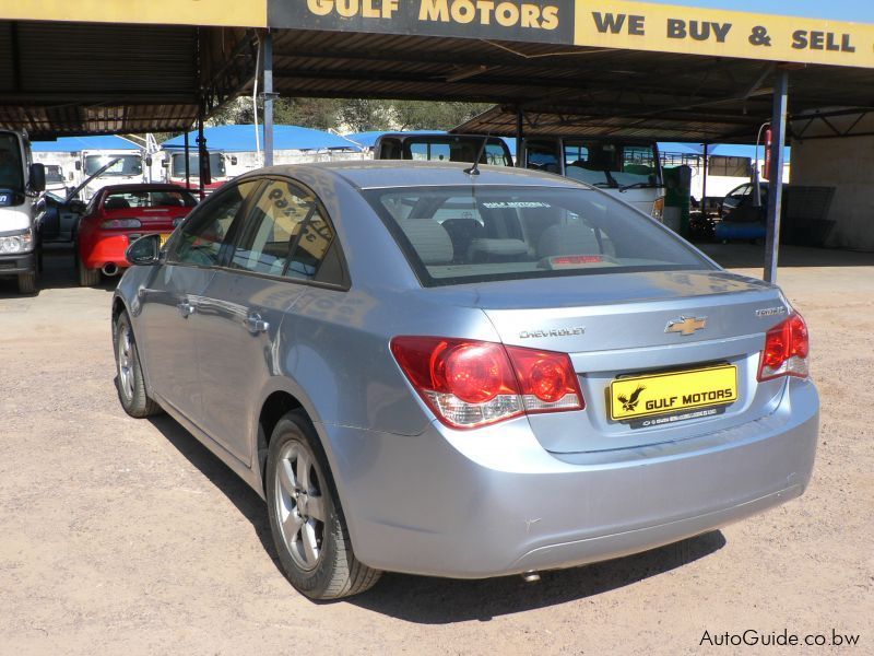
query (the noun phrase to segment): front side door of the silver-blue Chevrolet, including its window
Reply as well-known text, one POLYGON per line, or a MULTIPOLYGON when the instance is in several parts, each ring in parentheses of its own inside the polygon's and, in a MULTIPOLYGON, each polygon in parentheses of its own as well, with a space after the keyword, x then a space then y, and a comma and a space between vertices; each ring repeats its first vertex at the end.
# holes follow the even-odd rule
POLYGON ((225 255, 235 220, 256 187, 256 181, 232 185, 198 208, 174 234, 165 263, 153 268, 139 294, 137 339, 152 387, 164 402, 198 425, 202 420, 199 303, 225 255))

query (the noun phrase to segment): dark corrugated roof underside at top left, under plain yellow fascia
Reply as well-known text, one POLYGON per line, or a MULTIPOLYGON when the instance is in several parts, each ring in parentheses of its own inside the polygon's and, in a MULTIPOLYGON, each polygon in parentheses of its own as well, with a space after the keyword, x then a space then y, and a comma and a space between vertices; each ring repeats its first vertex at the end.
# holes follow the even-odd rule
MULTIPOLYGON (((0 127, 27 130, 32 139, 187 129, 201 87, 213 83, 209 71, 220 78, 239 33, 0 21, 0 127)), ((241 86, 233 77, 221 80, 241 86)))

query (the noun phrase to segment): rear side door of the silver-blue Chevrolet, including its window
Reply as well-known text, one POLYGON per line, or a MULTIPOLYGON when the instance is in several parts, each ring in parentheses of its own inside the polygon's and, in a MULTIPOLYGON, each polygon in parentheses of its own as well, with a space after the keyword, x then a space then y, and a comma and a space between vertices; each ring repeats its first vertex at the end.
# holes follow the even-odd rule
POLYGON ((280 325, 307 289, 300 283, 322 281, 333 242, 324 208, 310 190, 270 179, 235 235, 227 267, 203 294, 199 339, 211 354, 200 359, 206 431, 246 464, 262 390, 287 352, 280 325))

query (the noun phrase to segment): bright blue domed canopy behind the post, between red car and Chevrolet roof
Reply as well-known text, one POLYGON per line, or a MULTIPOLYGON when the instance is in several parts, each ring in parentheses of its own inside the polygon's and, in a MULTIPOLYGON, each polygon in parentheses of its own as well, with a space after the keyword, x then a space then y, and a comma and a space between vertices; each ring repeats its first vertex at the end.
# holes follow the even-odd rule
MULTIPOLYGON (((264 148, 264 126, 258 126, 261 149, 264 148)), ((216 126, 204 128, 203 136, 206 139, 206 148, 211 151, 225 151, 245 153, 255 151, 255 126, 216 126)), ((188 133, 190 148, 197 149, 197 131, 188 133)), ((185 134, 179 134, 168 139, 161 144, 167 150, 185 148, 185 134)), ((273 126, 273 150, 352 150, 361 151, 357 143, 310 128, 299 126, 273 126)))

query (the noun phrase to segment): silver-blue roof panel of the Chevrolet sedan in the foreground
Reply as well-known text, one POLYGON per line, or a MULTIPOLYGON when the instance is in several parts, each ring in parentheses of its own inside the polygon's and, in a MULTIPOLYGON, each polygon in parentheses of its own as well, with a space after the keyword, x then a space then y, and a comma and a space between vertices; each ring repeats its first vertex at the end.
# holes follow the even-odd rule
POLYGON ((247 173, 241 177, 258 175, 287 175, 291 177, 318 177, 323 175, 343 178, 359 189, 392 187, 435 187, 451 185, 510 185, 515 187, 566 187, 589 189, 589 185, 550 173, 528 171, 512 166, 482 164, 480 175, 464 173, 470 168, 464 162, 416 162, 411 160, 378 160, 324 162, 271 166, 247 173), (309 174, 309 175, 307 175, 309 174), (315 174, 315 175, 314 175, 315 174))

